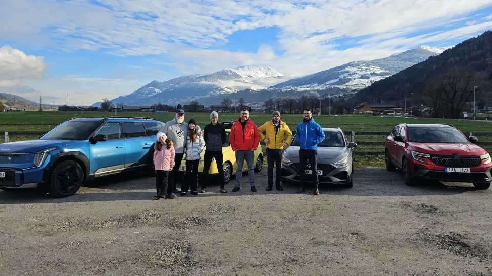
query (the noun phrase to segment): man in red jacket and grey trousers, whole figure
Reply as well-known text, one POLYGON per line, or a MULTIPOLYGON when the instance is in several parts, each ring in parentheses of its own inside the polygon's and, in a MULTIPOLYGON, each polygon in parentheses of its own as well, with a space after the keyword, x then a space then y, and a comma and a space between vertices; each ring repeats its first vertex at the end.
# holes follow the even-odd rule
POLYGON ((244 160, 246 160, 251 191, 256 192, 253 159, 255 158, 255 150, 260 142, 260 134, 256 124, 249 118, 247 109, 241 110, 241 116, 232 125, 229 140, 231 141, 232 150, 236 152, 237 164, 236 183, 232 191, 241 190, 242 166, 244 165, 244 160))

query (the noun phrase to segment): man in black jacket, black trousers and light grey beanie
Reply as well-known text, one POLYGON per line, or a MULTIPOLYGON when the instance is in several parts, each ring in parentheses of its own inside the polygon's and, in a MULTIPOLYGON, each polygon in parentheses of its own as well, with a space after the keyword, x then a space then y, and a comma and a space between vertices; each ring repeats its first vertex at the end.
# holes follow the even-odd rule
POLYGON ((226 193, 226 186, 224 183, 224 156, 222 153, 222 144, 226 143, 226 128, 222 124, 219 124, 219 114, 215 111, 210 113, 211 123, 206 125, 203 130, 203 137, 205 139, 205 160, 203 164, 203 176, 201 183, 200 193, 204 193, 209 181, 210 164, 212 164, 212 158, 215 158, 217 163, 217 170, 219 171, 219 183, 220 192, 226 193))

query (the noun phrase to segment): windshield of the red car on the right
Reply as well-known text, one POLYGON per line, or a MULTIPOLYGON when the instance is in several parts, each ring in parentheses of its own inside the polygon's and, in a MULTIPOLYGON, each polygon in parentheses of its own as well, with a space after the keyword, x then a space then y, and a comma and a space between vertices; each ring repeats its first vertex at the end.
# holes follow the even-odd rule
POLYGON ((410 127, 408 141, 418 143, 469 143, 468 139, 452 127, 410 127))

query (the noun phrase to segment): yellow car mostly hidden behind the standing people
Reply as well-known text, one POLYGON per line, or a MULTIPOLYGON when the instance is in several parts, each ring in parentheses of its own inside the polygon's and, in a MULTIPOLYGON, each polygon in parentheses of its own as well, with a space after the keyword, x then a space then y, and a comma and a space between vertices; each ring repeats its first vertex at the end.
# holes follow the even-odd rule
MULTIPOLYGON (((231 180, 232 176, 236 173, 237 163, 236 163, 236 153, 232 151, 231 143, 229 142, 229 134, 231 132, 232 122, 224 122, 222 123, 226 127, 226 135, 227 140, 226 143, 222 145, 222 154, 224 155, 224 164, 222 164, 224 168, 224 182, 227 184, 229 180, 231 180)), ((200 162, 198 164, 198 173, 203 172, 204 160, 205 160, 205 150, 204 149, 200 154, 200 162)), ((180 172, 185 172, 185 157, 181 162, 181 166, 179 166, 180 172)), ((263 169, 263 151, 261 150, 261 145, 258 143, 258 148, 255 150, 255 158, 254 158, 255 172, 261 172, 263 169)), ((248 166, 246 162, 244 162, 244 166, 242 171, 248 171, 248 166)), ((217 170, 217 163, 215 162, 215 158, 212 159, 212 164, 210 164, 209 174, 216 175, 219 171, 217 170)))

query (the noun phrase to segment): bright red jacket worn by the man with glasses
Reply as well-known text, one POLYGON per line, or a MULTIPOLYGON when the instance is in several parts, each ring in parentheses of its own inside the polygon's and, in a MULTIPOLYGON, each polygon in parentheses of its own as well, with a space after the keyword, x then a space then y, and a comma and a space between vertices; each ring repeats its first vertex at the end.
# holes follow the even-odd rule
POLYGON ((229 140, 231 141, 231 148, 233 150, 251 150, 257 149, 260 142, 260 134, 258 133, 258 127, 256 124, 248 118, 246 125, 244 126, 244 135, 242 134, 241 119, 238 118, 231 127, 231 134, 229 134, 229 140))

